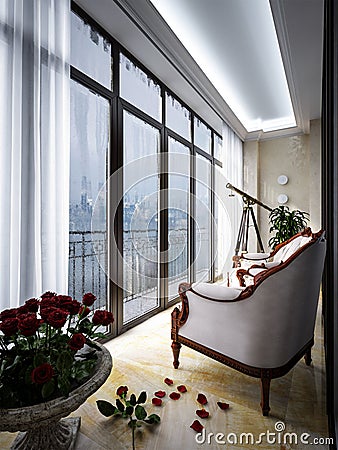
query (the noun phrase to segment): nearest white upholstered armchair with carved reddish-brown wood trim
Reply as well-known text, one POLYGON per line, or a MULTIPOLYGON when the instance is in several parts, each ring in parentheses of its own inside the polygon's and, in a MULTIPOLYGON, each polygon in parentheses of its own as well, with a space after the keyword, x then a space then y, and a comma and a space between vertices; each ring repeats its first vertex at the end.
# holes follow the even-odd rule
POLYGON ((307 234, 306 242, 256 274, 248 287, 180 285, 182 304, 172 313, 171 330, 176 369, 184 344, 260 378, 262 412, 268 415, 271 379, 304 355, 311 362, 326 240, 322 231, 307 234))

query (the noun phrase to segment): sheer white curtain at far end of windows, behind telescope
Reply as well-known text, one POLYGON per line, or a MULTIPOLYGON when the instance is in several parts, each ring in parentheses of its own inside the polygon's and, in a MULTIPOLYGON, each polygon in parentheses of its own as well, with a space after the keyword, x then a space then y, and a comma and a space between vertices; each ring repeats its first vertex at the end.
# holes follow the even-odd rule
POLYGON ((225 186, 229 182, 243 189, 243 142, 226 123, 223 123, 222 138, 223 168, 216 172, 216 193, 219 198, 219 267, 222 267, 223 276, 226 276, 226 272, 229 272, 232 267, 242 203, 237 194, 229 197, 231 191, 225 186))

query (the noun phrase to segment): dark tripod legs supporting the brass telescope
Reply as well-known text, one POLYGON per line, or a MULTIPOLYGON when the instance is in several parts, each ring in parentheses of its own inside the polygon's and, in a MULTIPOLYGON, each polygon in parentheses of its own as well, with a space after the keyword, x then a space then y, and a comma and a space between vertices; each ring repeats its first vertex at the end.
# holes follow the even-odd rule
POLYGON ((243 201, 244 201, 244 207, 243 207, 241 222, 240 222, 239 230, 238 230, 238 236, 237 236, 237 242, 236 242, 236 248, 235 248, 235 256, 233 257, 233 261, 234 261, 233 266, 234 267, 236 267, 238 265, 238 261, 240 259, 238 254, 239 254, 240 250, 241 250, 241 253, 248 251, 250 217, 252 219, 253 226, 254 226, 254 229, 256 232, 260 251, 264 252, 263 242, 262 242, 261 235, 259 233, 257 220, 255 217, 255 212, 252 208, 254 203, 246 198, 243 198, 243 201))

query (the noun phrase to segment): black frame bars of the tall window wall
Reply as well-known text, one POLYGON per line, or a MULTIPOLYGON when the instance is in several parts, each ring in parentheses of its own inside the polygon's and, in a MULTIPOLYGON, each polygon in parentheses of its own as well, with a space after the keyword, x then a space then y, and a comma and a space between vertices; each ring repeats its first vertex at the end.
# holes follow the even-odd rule
MULTIPOLYGON (((102 36, 107 39, 111 44, 111 56, 113 59, 113 82, 112 82, 112 90, 109 90, 105 86, 101 85, 99 82, 95 81, 85 73, 81 72, 79 69, 71 66, 70 67, 70 78, 74 81, 83 84, 88 89, 93 92, 98 93, 99 95, 107 98, 110 102, 110 148, 109 148, 109 167, 107 170, 108 177, 112 176, 116 171, 123 168, 123 112, 128 111, 129 113, 135 115, 136 117, 144 120, 150 125, 154 126, 159 130, 160 133, 160 158, 161 158, 161 173, 160 173, 160 254, 162 255, 168 248, 168 198, 165 192, 168 188, 168 174, 166 173, 166 168, 168 167, 168 161, 166 155, 168 154, 168 140, 169 137, 175 139, 176 141, 182 143, 190 149, 191 154, 191 167, 190 167, 190 224, 189 224, 189 250, 190 254, 188 256, 188 270, 190 274, 189 282, 193 282, 195 280, 194 273, 192 273, 191 268, 193 266, 193 262, 195 259, 195 230, 194 230, 194 195, 196 192, 196 183, 195 183, 195 158, 194 156, 199 154, 204 158, 208 159, 211 163, 211 180, 210 180, 210 207, 211 207, 211 276, 210 282, 215 281, 215 250, 216 246, 214 243, 214 229, 213 229, 213 219, 214 219, 214 204, 215 204, 215 195, 214 195, 214 180, 215 180, 215 165, 222 167, 222 162, 214 157, 214 142, 215 136, 217 135, 220 139, 222 136, 217 133, 212 126, 210 126, 206 120, 200 117, 196 112, 194 112, 182 99, 180 99, 171 89, 169 89, 161 80, 159 80, 147 67, 145 67, 134 55, 132 55, 126 48, 124 48, 118 41, 116 41, 105 29, 103 29, 92 17, 90 17, 81 7, 79 7, 74 1, 71 3, 71 11, 81 17, 86 23, 90 26, 93 26, 97 29, 97 31, 102 34, 102 36), (144 71, 147 76, 149 76, 155 83, 157 83, 161 88, 161 96, 162 96, 162 121, 159 122, 146 112, 140 110, 133 104, 129 103, 127 100, 120 97, 120 53, 123 53, 128 59, 130 59, 137 67, 139 67, 142 71, 144 71), (191 118, 191 142, 189 142, 186 138, 176 133, 174 130, 170 129, 166 126, 166 93, 170 96, 174 97, 180 104, 186 108, 190 113, 191 118), (205 152, 203 149, 199 148, 194 144, 194 122, 195 118, 203 122, 211 130, 211 150, 210 154, 205 152)), ((122 186, 118 186, 117 188, 117 197, 120 195, 123 196, 123 183, 122 186), (120 194, 120 195, 119 195, 120 194)), ((108 236, 113 234, 115 241, 117 242, 117 251, 121 254, 123 252, 123 204, 119 202, 119 205, 116 209, 115 217, 111 217, 110 209, 108 208, 108 236)), ((108 307, 110 311, 114 314, 115 323, 110 332, 107 334, 107 339, 111 339, 116 335, 119 335, 126 331, 127 329, 143 322, 147 318, 153 316, 166 309, 167 307, 173 305, 175 302, 179 300, 177 296, 176 299, 169 300, 167 295, 167 286, 166 279, 168 275, 168 264, 160 260, 160 292, 159 292, 159 306, 148 313, 135 318, 134 320, 128 322, 127 324, 123 324, 123 289, 116 283, 117 274, 114 267, 114 260, 117 259, 117 255, 114 254, 112 249, 112 245, 110 242, 107 243, 108 247, 108 261, 110 261, 110 276, 108 276, 108 286, 107 291, 109 295, 109 299, 107 301, 108 307)), ((116 250, 115 250, 116 251, 116 250)))

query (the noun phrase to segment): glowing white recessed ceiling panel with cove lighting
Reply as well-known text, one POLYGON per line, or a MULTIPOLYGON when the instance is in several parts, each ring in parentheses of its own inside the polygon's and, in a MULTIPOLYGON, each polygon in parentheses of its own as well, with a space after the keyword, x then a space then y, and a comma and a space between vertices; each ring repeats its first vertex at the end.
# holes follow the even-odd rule
POLYGON ((295 126, 269 0, 151 0, 247 131, 295 126))

